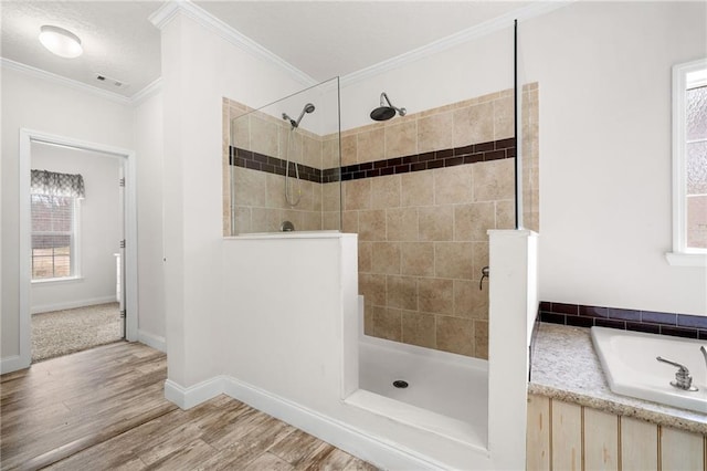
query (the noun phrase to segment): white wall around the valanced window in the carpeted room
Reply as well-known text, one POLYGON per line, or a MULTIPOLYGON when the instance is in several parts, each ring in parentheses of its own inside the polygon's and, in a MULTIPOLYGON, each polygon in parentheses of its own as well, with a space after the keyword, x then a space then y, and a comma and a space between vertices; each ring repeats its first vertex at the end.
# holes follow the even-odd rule
POLYGON ((81 200, 78 272, 81 279, 35 282, 31 312, 109 303, 116 300, 116 261, 120 240, 118 178, 123 163, 113 156, 34 143, 32 168, 81 174, 86 198, 81 200))

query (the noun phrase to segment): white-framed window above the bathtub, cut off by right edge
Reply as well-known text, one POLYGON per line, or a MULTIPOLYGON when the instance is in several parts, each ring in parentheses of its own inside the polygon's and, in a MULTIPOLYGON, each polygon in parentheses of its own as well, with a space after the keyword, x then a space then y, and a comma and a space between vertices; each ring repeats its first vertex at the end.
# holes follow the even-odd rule
POLYGON ((674 265, 707 266, 707 59, 673 67, 674 265))

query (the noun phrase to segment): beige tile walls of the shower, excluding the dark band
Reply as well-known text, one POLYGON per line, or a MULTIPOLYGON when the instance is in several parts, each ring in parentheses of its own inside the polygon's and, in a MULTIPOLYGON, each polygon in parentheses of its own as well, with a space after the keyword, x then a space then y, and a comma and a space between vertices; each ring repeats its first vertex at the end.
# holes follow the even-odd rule
MULTIPOLYGON (((524 217, 538 229, 537 84, 524 91, 524 217)), ((225 118, 249 112, 224 102, 225 118)), ((224 234, 230 234, 228 133, 238 147, 284 159, 288 126, 258 113, 224 125, 224 234)), ((341 134, 341 165, 379 163, 514 137, 514 96, 506 90, 341 134)), ((336 135, 303 132, 304 164, 338 167, 336 135)), ((488 357, 489 229, 515 228, 515 159, 478 161, 399 175, 302 181, 297 207, 284 177, 232 167, 238 233, 338 229, 359 236, 359 290, 367 335, 488 357), (340 193, 344 196, 339 203, 340 193), (339 212, 341 211, 341 212, 339 212), (340 218, 339 218, 340 214, 340 218), (479 289, 481 286, 481 289, 479 289)))

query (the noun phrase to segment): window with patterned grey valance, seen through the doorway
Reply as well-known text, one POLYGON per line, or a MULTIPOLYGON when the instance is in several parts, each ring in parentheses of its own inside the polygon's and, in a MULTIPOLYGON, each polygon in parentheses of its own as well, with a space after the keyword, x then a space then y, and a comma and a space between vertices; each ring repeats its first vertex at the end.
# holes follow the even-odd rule
POLYGON ((32 170, 32 280, 77 276, 81 175, 32 170))

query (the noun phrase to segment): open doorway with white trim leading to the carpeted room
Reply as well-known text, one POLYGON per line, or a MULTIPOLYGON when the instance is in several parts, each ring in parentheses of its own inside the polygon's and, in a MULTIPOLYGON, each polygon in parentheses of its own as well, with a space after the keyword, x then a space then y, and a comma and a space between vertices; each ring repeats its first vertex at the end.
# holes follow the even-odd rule
POLYGON ((137 339, 134 160, 131 150, 21 129, 20 358, 23 365, 122 338, 137 339), (36 171, 32 172, 33 169, 36 171), (85 192, 76 193, 68 202, 55 197, 31 196, 41 192, 32 177, 44 177, 40 175, 43 170, 57 174, 62 180, 81 176, 85 192), (41 229, 46 227, 38 226, 33 213, 46 214, 33 209, 57 203, 61 203, 60 220, 72 212, 72 223, 60 229, 73 227, 76 231, 49 234, 59 237, 61 242, 44 243, 51 237, 44 237, 48 234, 41 229), (33 322, 33 318, 43 322, 33 322), (49 335, 40 332, 42 328, 49 328, 49 335), (44 335, 44 344, 52 344, 40 345, 49 348, 38 355, 33 353, 38 347, 33 332, 38 338, 44 335), (59 338, 62 335, 66 345, 59 338))

